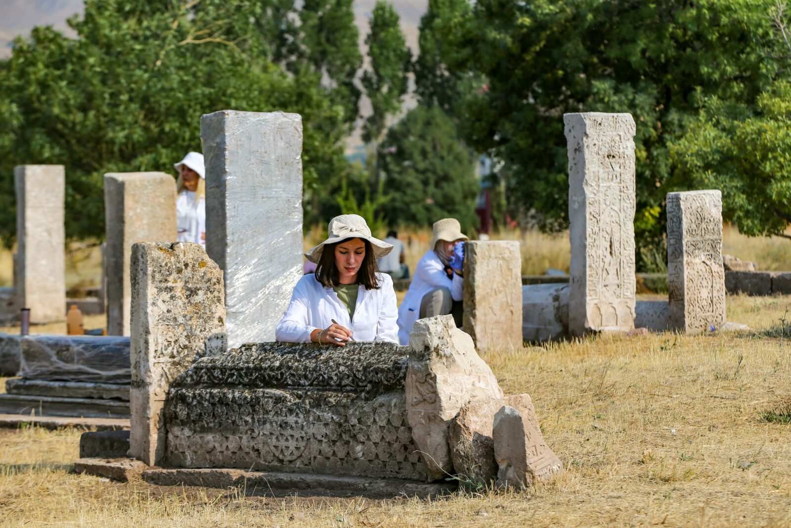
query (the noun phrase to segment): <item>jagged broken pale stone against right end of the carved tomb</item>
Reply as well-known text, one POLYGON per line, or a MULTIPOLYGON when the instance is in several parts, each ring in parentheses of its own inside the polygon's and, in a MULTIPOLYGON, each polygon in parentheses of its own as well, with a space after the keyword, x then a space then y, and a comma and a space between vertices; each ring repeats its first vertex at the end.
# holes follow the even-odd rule
POLYGON ((448 426, 462 405, 502 397, 491 369, 472 338, 450 315, 418 319, 409 334, 407 420, 430 476, 452 472, 448 426))

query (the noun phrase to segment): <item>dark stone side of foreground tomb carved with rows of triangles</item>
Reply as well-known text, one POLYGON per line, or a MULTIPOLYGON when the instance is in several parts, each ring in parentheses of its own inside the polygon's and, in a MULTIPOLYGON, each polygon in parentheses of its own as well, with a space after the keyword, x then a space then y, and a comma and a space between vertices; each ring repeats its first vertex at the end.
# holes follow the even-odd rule
POLYGON ((426 480, 403 389, 171 388, 166 409, 171 465, 426 480))

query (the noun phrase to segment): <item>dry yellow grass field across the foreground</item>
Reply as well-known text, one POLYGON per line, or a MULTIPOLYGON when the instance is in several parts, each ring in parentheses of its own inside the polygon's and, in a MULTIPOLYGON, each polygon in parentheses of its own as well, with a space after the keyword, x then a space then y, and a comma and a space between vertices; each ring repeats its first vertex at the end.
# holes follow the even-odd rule
POLYGON ((119 484, 70 473, 80 431, 24 428, 0 430, 0 526, 791 526, 791 296, 728 310, 754 330, 483 355, 532 395, 554 484, 429 501, 119 484))

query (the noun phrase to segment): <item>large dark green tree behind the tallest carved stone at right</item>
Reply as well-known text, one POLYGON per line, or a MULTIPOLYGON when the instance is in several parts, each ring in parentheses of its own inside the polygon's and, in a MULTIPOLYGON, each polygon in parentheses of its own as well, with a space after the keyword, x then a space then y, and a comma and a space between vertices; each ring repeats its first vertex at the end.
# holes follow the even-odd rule
POLYGON ((778 76, 766 54, 774 0, 479 0, 434 25, 452 69, 486 77, 460 104, 464 139, 492 150, 509 196, 547 230, 567 225, 562 114, 630 112, 637 122, 638 268, 664 232, 668 145, 702 97, 750 104, 778 76))

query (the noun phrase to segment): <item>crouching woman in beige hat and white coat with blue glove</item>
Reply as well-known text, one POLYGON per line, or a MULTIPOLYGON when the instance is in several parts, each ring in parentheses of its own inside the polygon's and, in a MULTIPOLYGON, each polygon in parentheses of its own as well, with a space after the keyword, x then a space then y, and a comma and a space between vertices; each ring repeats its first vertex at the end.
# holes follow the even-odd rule
MULTIPOLYGON (((461 232, 456 218, 442 218, 433 225, 431 249, 414 268, 412 282, 398 310, 398 336, 401 344, 409 344, 409 332, 414 321, 423 317, 445 315, 459 311, 462 298, 462 258, 454 256, 456 243, 469 240, 461 232), (456 302, 456 306, 454 306, 456 302)), ((463 249, 460 246, 459 249, 463 249)), ((456 251, 455 253, 460 253, 456 251)), ((456 321, 460 325, 460 321, 456 321)))

